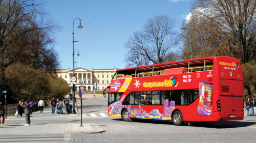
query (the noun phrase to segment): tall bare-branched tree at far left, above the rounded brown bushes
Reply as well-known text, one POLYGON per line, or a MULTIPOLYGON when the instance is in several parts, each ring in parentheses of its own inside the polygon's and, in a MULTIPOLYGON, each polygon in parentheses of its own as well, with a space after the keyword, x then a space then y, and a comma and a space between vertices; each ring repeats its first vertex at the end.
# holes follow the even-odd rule
POLYGON ((6 82, 5 69, 17 61, 53 71, 58 66, 57 53, 48 46, 54 42, 55 28, 43 5, 33 0, 1 0, 0 83, 6 82))

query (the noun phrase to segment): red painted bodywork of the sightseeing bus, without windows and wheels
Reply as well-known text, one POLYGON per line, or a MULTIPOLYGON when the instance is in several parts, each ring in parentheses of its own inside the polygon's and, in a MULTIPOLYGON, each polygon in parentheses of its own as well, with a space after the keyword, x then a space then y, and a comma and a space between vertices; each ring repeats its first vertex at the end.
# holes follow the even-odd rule
MULTIPOLYGON (((207 59, 212 60, 213 70, 208 68, 208 71, 205 69, 205 71, 199 70, 198 72, 146 77, 136 77, 135 74, 135 76, 124 75, 120 78, 113 78, 109 93, 121 92, 123 95, 109 106, 109 116, 121 117, 121 111, 125 108, 130 118, 172 120, 173 111, 178 109, 182 113, 183 121, 243 120, 244 89, 240 61, 229 57, 207 59), (132 92, 185 89, 198 89, 200 96, 188 105, 180 105, 182 101, 169 100, 162 101, 164 103, 161 105, 153 105, 153 101, 148 105, 122 104, 127 95, 132 92), (218 100, 221 110, 217 108, 218 100)), ((184 67, 175 70, 182 69, 184 67)))

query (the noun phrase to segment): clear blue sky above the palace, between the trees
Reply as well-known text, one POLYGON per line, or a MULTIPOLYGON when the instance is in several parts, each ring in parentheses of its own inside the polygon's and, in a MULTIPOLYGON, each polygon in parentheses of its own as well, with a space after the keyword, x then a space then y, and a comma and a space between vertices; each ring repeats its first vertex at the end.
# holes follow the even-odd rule
MULTIPOLYGON (((181 33, 182 22, 188 18, 194 0, 50 0, 45 4, 60 31, 55 37, 60 69, 72 69, 72 31, 74 21, 75 68, 126 68, 124 48, 128 38, 141 31, 147 19, 168 15, 176 21, 175 31, 181 33), (80 61, 80 62, 79 62, 80 61)), ((180 45, 182 46, 182 45, 180 45)), ((179 48, 179 47, 177 47, 179 48)))

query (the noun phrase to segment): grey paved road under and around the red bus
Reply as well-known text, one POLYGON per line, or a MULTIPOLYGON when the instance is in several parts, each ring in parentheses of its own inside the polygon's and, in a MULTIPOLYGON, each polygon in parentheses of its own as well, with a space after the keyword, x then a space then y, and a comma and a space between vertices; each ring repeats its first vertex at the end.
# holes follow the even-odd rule
MULTIPOLYGON (((121 118, 105 117, 106 106, 107 99, 103 97, 83 99, 82 123, 99 125, 103 133, 66 133, 70 118, 65 116, 69 115, 52 115, 46 110, 49 118, 40 118, 44 113, 33 113, 31 126, 24 126, 24 118, 7 120, 6 126, 0 126, 0 142, 256 142, 256 117, 246 115, 244 121, 212 125, 174 126, 172 122, 123 122, 121 118)), ((80 124, 79 119, 76 124, 80 124)))

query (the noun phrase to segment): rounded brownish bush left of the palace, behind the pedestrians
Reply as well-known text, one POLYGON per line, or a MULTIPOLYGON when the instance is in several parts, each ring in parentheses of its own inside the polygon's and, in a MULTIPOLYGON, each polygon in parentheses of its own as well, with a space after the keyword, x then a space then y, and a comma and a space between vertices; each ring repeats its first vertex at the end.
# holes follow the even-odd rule
POLYGON ((37 101, 40 98, 57 98, 69 92, 63 79, 22 63, 9 66, 5 70, 5 76, 14 100, 37 101))

